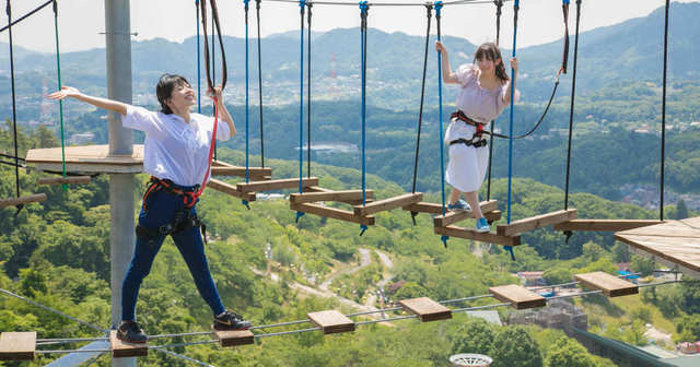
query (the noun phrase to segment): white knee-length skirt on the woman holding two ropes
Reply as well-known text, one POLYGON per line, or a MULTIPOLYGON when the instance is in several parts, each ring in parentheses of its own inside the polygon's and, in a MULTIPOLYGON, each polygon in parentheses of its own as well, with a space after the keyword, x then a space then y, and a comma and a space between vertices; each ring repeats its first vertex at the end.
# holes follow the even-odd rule
MULTIPOLYGON (((457 139, 469 140, 476 128, 462 121, 451 122, 445 134, 445 143, 457 139)), ((489 146, 467 146, 465 144, 450 145, 450 163, 445 173, 445 180, 462 192, 478 191, 483 183, 486 170, 489 166, 489 146)))

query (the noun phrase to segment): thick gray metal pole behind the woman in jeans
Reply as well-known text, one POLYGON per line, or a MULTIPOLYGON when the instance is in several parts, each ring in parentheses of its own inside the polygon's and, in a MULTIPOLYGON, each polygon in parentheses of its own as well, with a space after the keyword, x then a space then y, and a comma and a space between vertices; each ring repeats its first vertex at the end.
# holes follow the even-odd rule
MULTIPOLYGON (((131 104, 131 25, 129 0, 105 0, 107 96, 131 104)), ((121 116, 109 113, 109 154, 131 155, 133 133, 121 127, 121 116)), ((121 321, 121 281, 133 253, 133 174, 109 175, 112 263, 112 323, 121 321)), ((112 366, 135 367, 136 358, 113 358, 112 366)))

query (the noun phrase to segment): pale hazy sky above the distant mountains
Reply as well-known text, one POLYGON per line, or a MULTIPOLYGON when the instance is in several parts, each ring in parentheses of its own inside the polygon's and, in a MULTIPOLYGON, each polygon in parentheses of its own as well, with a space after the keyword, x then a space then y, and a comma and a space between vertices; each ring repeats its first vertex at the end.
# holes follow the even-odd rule
MULTIPOLYGON (((13 19, 20 17, 46 0, 14 0, 13 19)), ((313 8, 313 31, 325 32, 337 27, 360 25, 357 1, 349 5, 316 4, 313 8)), ((673 2, 698 2, 700 0, 674 0, 673 2)), ((208 1, 209 2, 209 1, 208 1)), ((420 0, 377 0, 374 3, 416 3, 420 0)), ((59 45, 61 52, 104 48, 105 29, 103 0, 59 0, 59 45)), ((242 0, 219 0, 219 16, 222 33, 245 36, 245 16, 242 0)), ((371 1, 372 3, 372 1, 371 1)), ((645 16, 663 7, 665 0, 583 0, 581 31, 612 25, 629 19, 645 16)), ((4 7, 2 7, 4 9, 4 7)), ((138 33, 132 40, 166 38, 173 42, 194 36, 197 32, 195 0, 131 0, 131 32, 138 33)), ((1 12, 0 24, 8 23, 1 12)), ((255 36, 255 0, 250 1, 249 34, 255 36)), ((270 34, 298 31, 300 27, 299 4, 262 0, 260 9, 262 37, 270 34)), ((402 32, 409 35, 425 34, 425 9, 423 7, 371 7, 369 26, 385 32, 402 32)), ((672 20, 673 22, 673 20, 672 20)), ((570 28, 575 25, 575 0, 571 0, 570 28)), ((561 0, 521 0, 518 12, 517 47, 546 44, 562 36, 563 21, 561 0)), ((660 29, 660 33, 663 29, 660 29)), ((435 33, 433 17, 432 33, 435 33)), ((467 38, 480 44, 495 38, 495 5, 493 3, 445 5, 442 11, 442 34, 467 38)), ((501 19, 501 43, 506 48, 513 40, 513 2, 503 5, 501 19)), ((8 33, 0 35, 8 42, 8 33)), ((43 52, 55 52, 54 12, 47 7, 13 27, 13 43, 18 46, 43 52)))

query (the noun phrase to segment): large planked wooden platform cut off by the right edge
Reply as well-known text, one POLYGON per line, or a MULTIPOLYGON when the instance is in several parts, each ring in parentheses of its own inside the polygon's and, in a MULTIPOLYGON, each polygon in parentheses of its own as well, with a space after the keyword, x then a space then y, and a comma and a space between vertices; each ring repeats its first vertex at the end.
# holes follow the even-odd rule
POLYGON ((615 238, 635 253, 700 279, 700 217, 618 232, 615 238))

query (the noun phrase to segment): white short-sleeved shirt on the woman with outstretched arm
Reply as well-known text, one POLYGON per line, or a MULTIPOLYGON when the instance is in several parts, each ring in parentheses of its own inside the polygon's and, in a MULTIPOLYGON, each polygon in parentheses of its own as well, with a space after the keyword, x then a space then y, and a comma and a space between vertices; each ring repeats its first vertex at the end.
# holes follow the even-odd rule
MULTIPOLYGON (((209 166, 212 117, 191 114, 187 123, 175 114, 129 106, 121 123, 125 128, 145 132, 143 169, 147 174, 180 186, 201 185, 209 166)), ((230 138, 229 125, 219 120, 217 139, 225 141, 230 138)))

